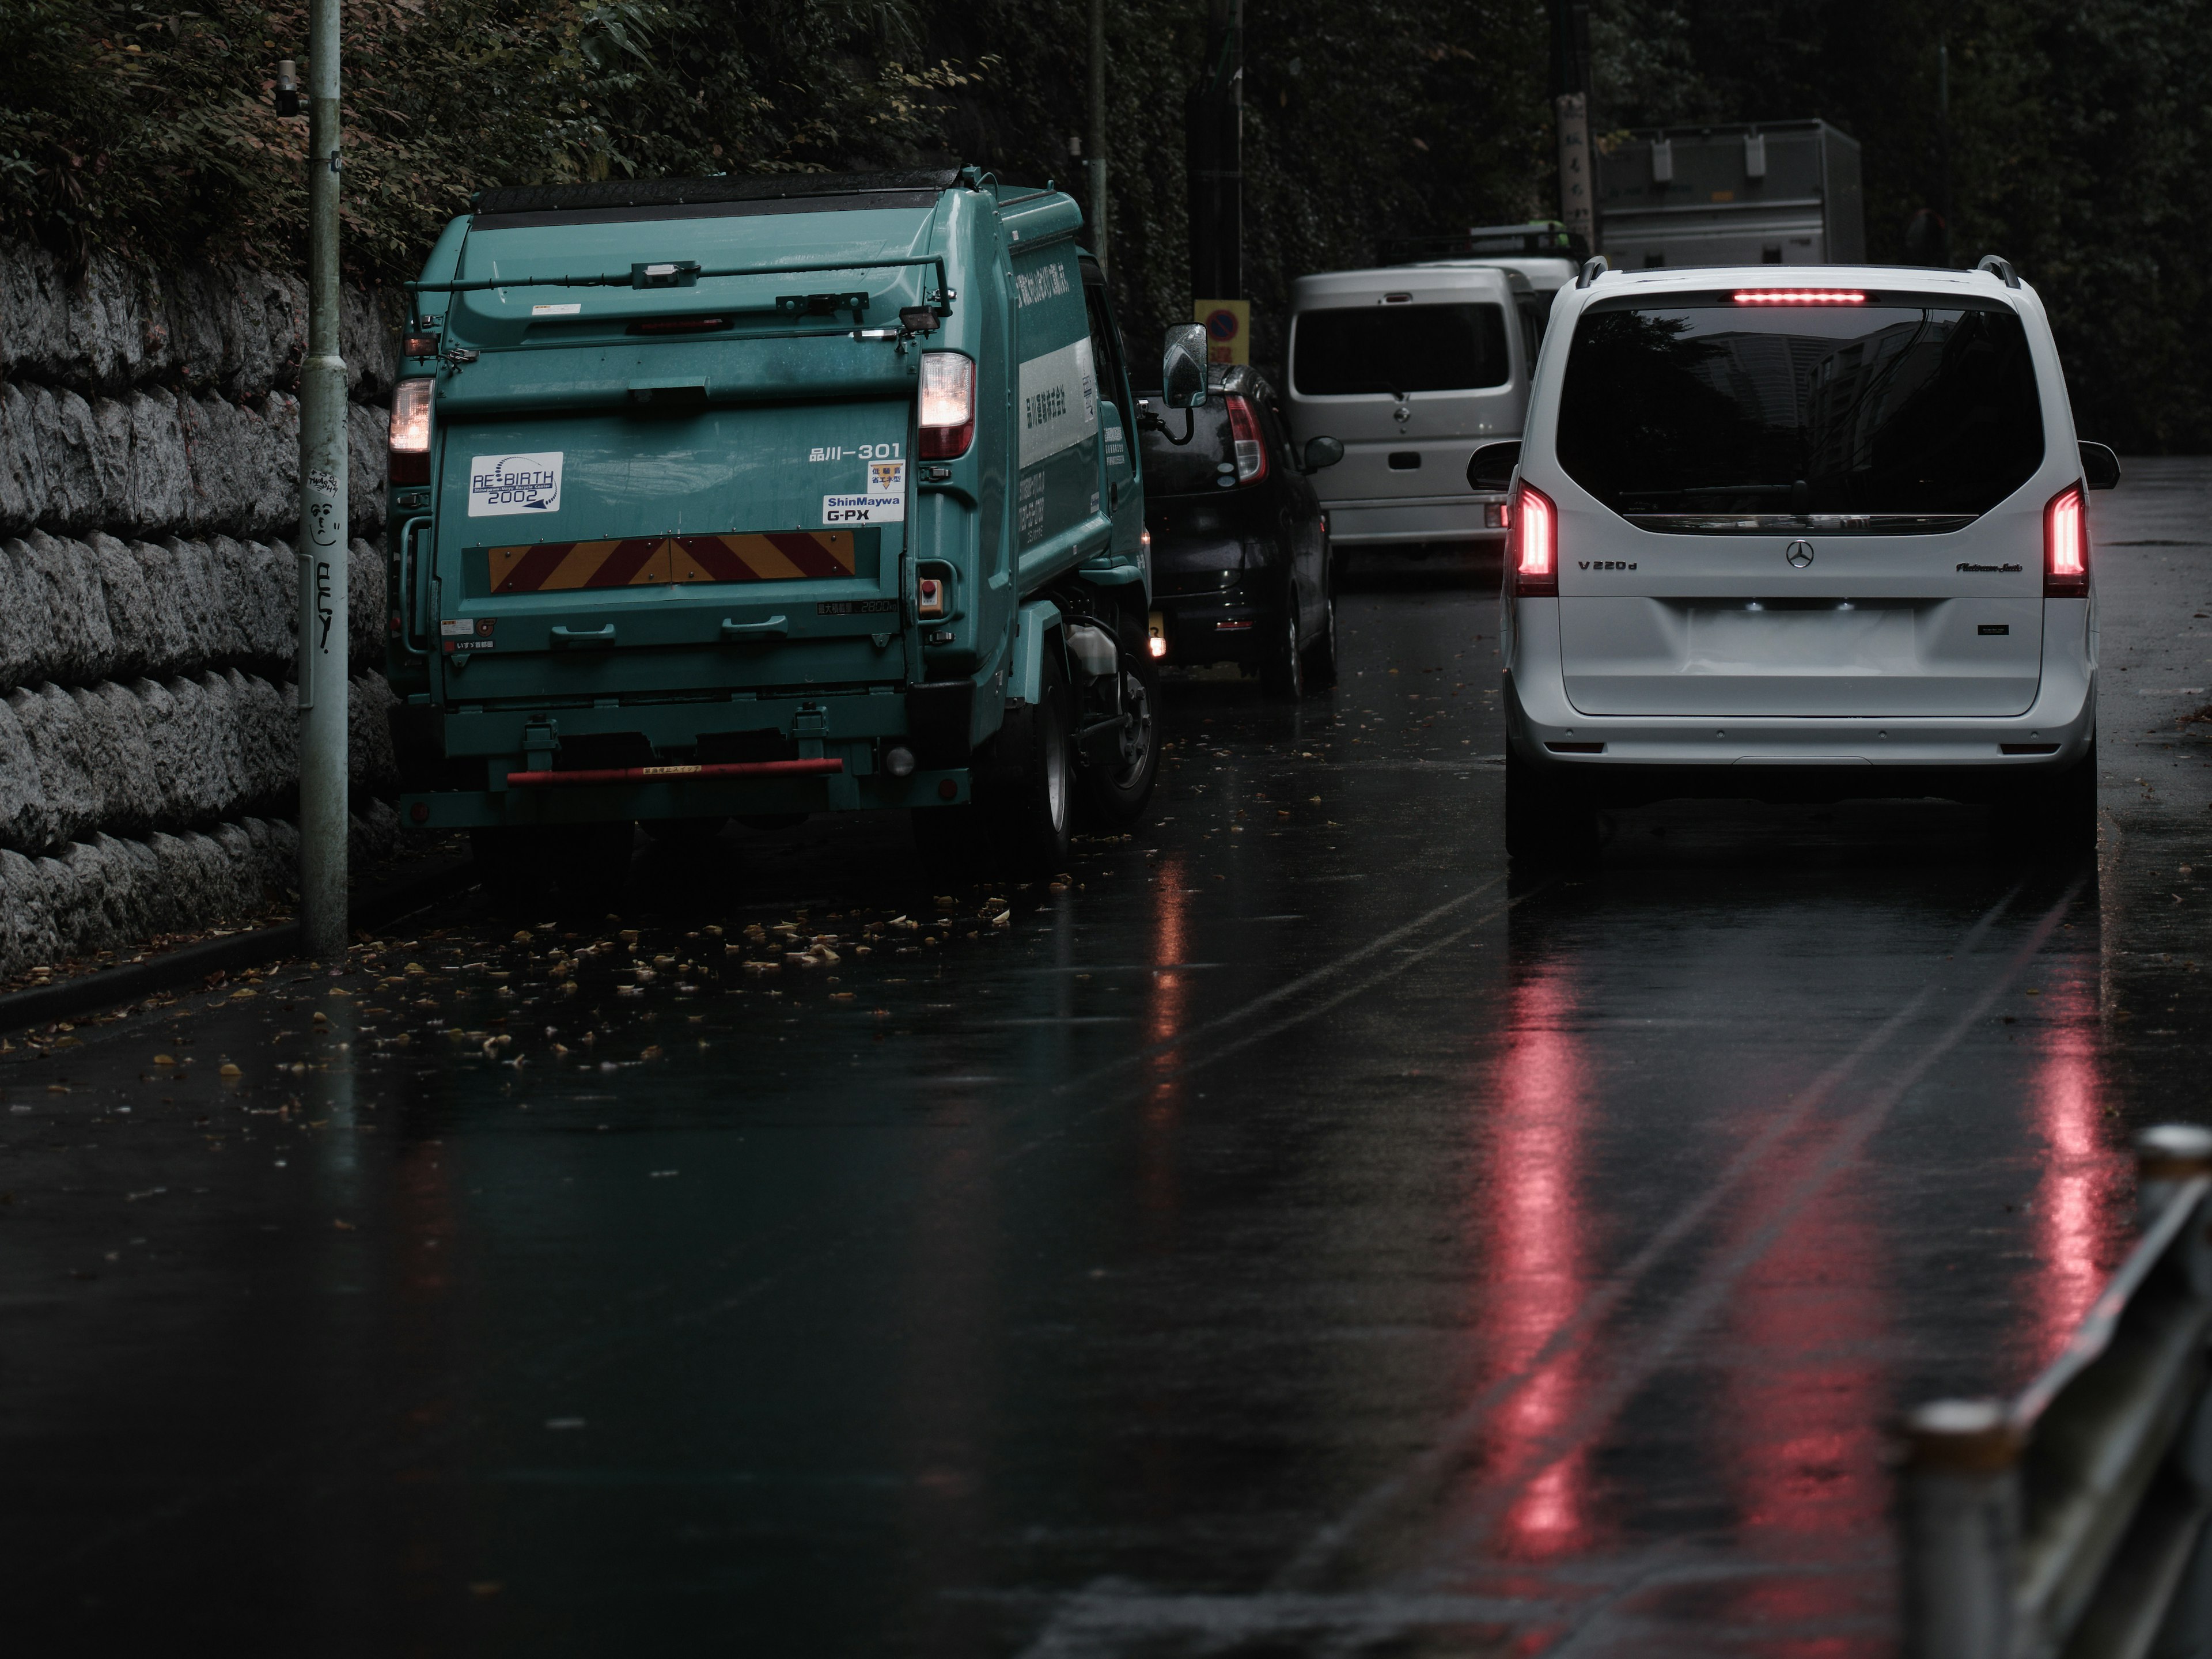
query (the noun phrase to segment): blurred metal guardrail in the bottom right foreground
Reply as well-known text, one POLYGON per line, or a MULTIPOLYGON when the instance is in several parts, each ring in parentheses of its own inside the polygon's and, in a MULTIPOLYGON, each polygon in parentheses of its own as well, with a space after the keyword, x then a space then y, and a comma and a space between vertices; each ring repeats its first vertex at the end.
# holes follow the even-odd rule
POLYGON ((2212 1130, 2135 1146, 2143 1237, 2066 1352, 1905 1420, 1909 1659, 2212 1655, 2212 1130))

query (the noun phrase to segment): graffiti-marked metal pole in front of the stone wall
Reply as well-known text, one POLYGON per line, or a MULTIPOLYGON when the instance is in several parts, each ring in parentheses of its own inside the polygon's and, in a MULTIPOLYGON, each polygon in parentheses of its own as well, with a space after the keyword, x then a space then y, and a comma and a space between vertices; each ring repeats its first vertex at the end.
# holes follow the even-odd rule
POLYGON ((338 0, 307 13, 307 361, 299 387, 299 922, 345 956, 345 358, 338 356, 338 0))

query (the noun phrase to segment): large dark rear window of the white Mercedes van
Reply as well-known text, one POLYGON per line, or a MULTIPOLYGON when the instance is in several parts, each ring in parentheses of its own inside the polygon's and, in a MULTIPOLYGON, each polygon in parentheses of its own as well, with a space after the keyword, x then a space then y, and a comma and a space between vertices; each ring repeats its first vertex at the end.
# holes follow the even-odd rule
POLYGON ((1909 535, 2020 489, 2044 420, 2011 310, 1670 301, 1575 325, 1557 453, 1644 529, 1909 535))

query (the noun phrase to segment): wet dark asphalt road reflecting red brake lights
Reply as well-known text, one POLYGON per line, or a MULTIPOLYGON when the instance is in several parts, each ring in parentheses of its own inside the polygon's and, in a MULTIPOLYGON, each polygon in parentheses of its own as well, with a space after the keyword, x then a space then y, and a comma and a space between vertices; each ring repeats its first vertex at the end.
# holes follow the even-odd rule
POLYGON ((2212 462, 2097 509, 2095 867, 1699 803, 1509 880, 1495 571, 1398 566, 1334 695, 1175 686, 1064 889, 732 832, 18 1035, 11 1628, 1891 1652, 1885 1420, 2022 1383, 2208 1115, 2212 462))

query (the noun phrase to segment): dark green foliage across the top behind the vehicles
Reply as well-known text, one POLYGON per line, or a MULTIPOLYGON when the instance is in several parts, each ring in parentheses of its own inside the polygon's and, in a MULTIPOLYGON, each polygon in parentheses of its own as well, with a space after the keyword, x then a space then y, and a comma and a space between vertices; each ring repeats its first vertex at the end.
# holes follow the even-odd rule
MULTIPOLYGON (((1944 206, 2051 305, 2084 431, 2212 445, 2212 0, 1595 0, 1599 126, 1827 115, 1876 259, 1944 206)), ((1110 250, 1139 345, 1188 316, 1183 97, 1201 0, 1110 0, 1110 250)), ((345 0, 345 250, 411 274, 495 184, 978 161, 1079 188, 1088 0, 345 0)), ((7 0, 0 234, 75 261, 296 263, 301 0, 7 0)), ((1535 0, 1250 0, 1245 288, 1548 210, 1535 0)))

